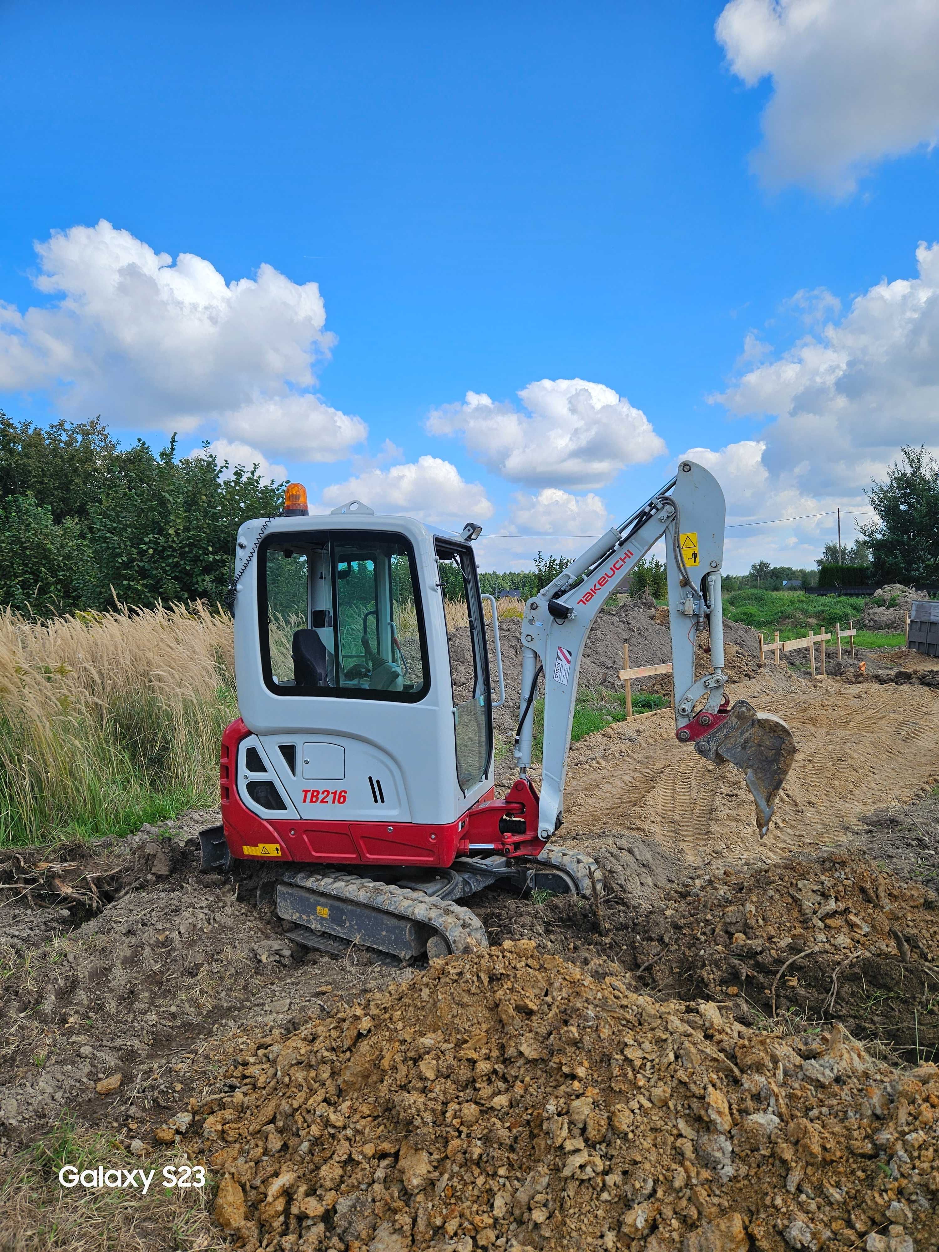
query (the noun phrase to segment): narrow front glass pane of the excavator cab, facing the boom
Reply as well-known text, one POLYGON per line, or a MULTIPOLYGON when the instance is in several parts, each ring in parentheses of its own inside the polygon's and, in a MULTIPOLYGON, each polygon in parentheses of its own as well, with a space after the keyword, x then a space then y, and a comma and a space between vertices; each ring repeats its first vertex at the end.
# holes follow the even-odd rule
POLYGON ((492 695, 480 580, 468 547, 437 543, 437 568, 447 617, 457 779, 471 791, 492 756, 492 695))

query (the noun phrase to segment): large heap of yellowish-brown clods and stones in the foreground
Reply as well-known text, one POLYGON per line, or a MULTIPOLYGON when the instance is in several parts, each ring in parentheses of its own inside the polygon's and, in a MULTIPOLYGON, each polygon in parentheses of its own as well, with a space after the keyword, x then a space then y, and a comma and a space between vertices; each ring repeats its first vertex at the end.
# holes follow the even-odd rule
POLYGON ((840 1029, 760 1034, 532 944, 243 1044, 192 1104, 217 1218, 268 1252, 786 1252, 876 1232, 868 1247, 925 1252, 936 1108, 935 1065, 899 1079, 840 1029))

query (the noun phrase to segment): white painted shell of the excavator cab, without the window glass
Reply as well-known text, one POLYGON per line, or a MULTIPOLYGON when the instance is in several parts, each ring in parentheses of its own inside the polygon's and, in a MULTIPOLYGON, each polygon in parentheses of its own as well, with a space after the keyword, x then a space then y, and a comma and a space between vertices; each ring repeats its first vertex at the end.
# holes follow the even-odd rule
MULTIPOLYGON (((245 522, 238 532, 237 563, 244 562, 264 527, 263 520, 245 522)), ((258 627, 258 557, 242 573, 235 592, 234 650, 238 705, 249 730, 263 747, 262 759, 270 766, 280 791, 305 820, 377 821, 394 816, 399 821, 456 821, 492 786, 492 761, 482 782, 463 794, 457 781, 453 722, 453 694, 443 598, 438 586, 434 540, 461 542, 459 537, 432 531, 407 517, 316 515, 282 517, 267 525, 264 540, 282 533, 387 531, 403 535, 412 545, 423 601, 429 666, 429 690, 417 702, 349 699, 348 696, 292 696, 270 691, 264 684, 258 627), (283 744, 297 750, 297 775, 292 775, 279 751, 283 744), (316 764, 304 777, 303 745, 328 744, 343 749, 344 779, 316 779, 316 764), (376 803, 369 776, 381 779, 384 804, 376 803), (347 800, 317 805, 303 803, 304 789, 328 784, 328 790, 347 793, 347 800)), ((243 755, 243 754, 242 754, 243 755)), ((260 816, 290 818, 252 805, 243 782, 248 771, 239 755, 239 794, 260 816)), ((336 772, 336 751, 326 772, 336 772)), ((249 775, 258 776, 262 775, 249 775)), ((322 790, 322 789, 321 789, 322 790)))

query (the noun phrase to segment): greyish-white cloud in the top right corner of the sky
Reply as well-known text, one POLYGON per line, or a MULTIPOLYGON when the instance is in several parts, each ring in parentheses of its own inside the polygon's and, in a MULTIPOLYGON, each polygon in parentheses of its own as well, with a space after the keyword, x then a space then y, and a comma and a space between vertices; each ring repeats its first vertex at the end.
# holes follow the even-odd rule
POLYGON ((715 29, 747 86, 772 78, 751 156, 767 187, 844 195, 939 134, 935 0, 731 0, 715 29))

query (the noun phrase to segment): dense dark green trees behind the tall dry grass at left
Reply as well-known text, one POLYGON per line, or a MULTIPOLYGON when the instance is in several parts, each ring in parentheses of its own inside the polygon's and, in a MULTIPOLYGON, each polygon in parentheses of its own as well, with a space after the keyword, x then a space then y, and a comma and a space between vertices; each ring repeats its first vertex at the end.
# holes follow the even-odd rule
POLYGON ((220 600, 239 525, 278 513, 284 485, 175 451, 175 437, 121 449, 98 419, 40 429, 0 413, 0 605, 220 600))

